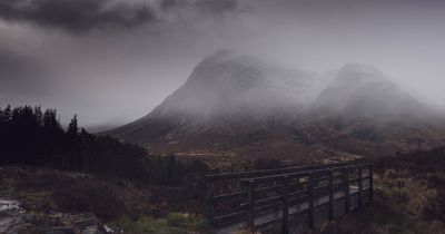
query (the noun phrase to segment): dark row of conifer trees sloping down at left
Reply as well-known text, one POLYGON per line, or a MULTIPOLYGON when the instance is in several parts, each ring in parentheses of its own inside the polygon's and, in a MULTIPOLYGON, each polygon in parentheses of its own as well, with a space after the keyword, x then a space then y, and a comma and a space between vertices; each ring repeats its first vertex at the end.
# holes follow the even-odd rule
POLYGON ((154 156, 137 145, 91 135, 78 127, 77 116, 63 129, 56 109, 39 106, 0 108, 0 164, 48 166, 161 184, 177 183, 197 166, 177 162, 174 155, 154 156))

